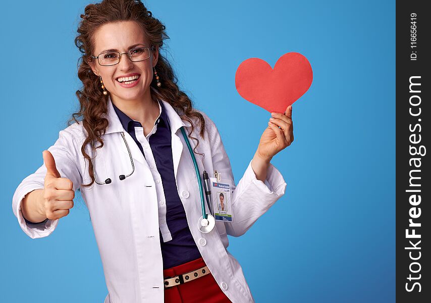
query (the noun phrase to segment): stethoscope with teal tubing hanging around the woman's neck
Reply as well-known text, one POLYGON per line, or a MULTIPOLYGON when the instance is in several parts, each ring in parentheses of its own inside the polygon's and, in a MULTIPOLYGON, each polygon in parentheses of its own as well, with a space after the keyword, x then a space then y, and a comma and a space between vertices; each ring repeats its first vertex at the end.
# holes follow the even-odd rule
MULTIPOLYGON (((189 153, 190 156, 192 157, 193 160, 193 165, 196 171, 196 176, 197 176, 197 180, 199 183, 199 192, 200 192, 200 204, 201 204, 201 208, 202 208, 202 217, 199 218, 198 221, 198 228, 202 233, 209 233, 215 226, 215 219, 212 215, 207 214, 206 210, 205 210, 205 200, 204 200, 204 194, 203 194, 203 188, 202 188, 202 179, 200 178, 200 173, 199 173, 199 167, 197 166, 197 162, 196 162, 196 158, 194 156, 192 147, 190 145, 190 141, 189 138, 187 137, 186 131, 184 130, 184 126, 182 126, 181 128, 181 133, 183 134, 184 140, 186 141, 187 144, 187 148, 189 149, 189 153)), ((124 143, 126 144, 127 147, 127 151, 129 153, 129 157, 130 157, 130 162, 132 163, 132 172, 128 175, 120 175, 119 178, 120 180, 124 180, 127 177, 130 177, 133 172, 135 171, 135 164, 133 163, 133 158, 132 158, 132 154, 130 153, 130 148, 129 145, 127 144, 127 140, 124 136, 124 132, 121 132, 121 136, 124 140, 124 143)), ((95 161, 94 161, 94 141, 92 142, 92 146, 91 146, 91 157, 93 160, 93 175, 94 175, 94 182, 96 182, 99 185, 102 184, 110 184, 112 182, 112 180, 110 178, 107 178, 104 182, 98 182, 97 181, 97 177, 96 177, 96 169, 95 169, 95 161)), ((206 174, 206 171, 203 172, 203 174, 206 174)), ((207 182, 205 182, 205 187, 207 187, 207 182)), ((208 200, 208 204, 210 205, 210 198, 208 198, 208 196, 210 196, 210 194, 208 194, 209 189, 205 188, 205 192, 206 192, 206 196, 207 196, 207 200, 208 200)), ((210 208, 211 209, 211 208, 210 208)))

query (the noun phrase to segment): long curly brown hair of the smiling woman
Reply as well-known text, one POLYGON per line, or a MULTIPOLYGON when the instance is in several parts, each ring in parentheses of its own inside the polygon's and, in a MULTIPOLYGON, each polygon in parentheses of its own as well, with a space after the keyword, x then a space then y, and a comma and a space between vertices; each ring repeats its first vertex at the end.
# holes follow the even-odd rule
MULTIPOLYGON (((101 135, 105 133, 109 124, 108 120, 103 117, 107 113, 109 92, 107 95, 103 95, 99 78, 92 72, 89 65, 89 63, 93 62, 91 56, 94 49, 94 33, 106 23, 135 21, 143 28, 150 45, 158 46, 159 50, 163 47, 164 40, 169 39, 169 36, 165 32, 165 25, 154 18, 140 0, 103 0, 101 3, 87 5, 84 12, 85 14, 81 14, 81 21, 77 30, 78 35, 75 38, 75 45, 82 53, 78 61, 78 77, 83 86, 76 91, 80 109, 77 113, 72 114, 68 125, 70 126, 73 122, 82 122, 86 130, 86 139, 81 146, 81 153, 88 160, 88 173, 91 177, 91 182, 81 184, 81 186, 91 186, 94 183, 93 163, 85 151, 85 146, 89 142, 97 140, 100 145, 96 148, 103 147, 101 135)), ((188 136, 197 141, 197 147, 199 140, 192 137, 191 133, 195 125, 200 125, 199 134, 203 138, 205 121, 202 114, 193 109, 191 99, 179 89, 177 85, 178 79, 172 66, 161 54, 158 56, 155 68, 160 81, 163 82, 163 86, 157 87, 155 81, 151 82, 151 99, 156 101, 158 95, 176 110, 182 120, 191 123, 188 136), (197 118, 198 123, 193 123, 192 118, 197 118)))

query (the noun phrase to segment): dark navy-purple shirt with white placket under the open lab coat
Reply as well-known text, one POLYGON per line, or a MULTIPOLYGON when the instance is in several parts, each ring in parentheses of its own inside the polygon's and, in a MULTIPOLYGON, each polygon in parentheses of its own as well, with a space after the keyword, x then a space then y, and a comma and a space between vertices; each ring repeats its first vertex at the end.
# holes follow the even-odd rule
MULTIPOLYGON (((160 233, 163 268, 167 269, 198 259, 201 255, 190 232, 186 212, 178 195, 174 175, 174 161, 172 159, 171 126, 163 102, 159 102, 159 104, 161 113, 155 121, 156 130, 149 136, 148 143, 154 156, 157 171, 161 176, 166 199, 166 221, 172 235, 172 240, 164 242, 160 233)), ((132 136, 142 155, 144 155, 142 145, 136 139, 134 128, 135 126, 143 126, 140 122, 130 119, 114 103, 112 105, 124 129, 132 136)))

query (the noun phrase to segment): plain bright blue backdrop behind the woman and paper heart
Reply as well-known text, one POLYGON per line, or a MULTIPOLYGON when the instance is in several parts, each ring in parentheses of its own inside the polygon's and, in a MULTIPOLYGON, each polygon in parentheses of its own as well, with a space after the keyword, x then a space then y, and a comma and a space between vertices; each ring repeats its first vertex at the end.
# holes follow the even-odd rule
MULTIPOLYGON (((3 3, 0 287, 5 302, 102 302, 88 210, 77 196, 31 239, 12 196, 77 109, 73 39, 87 1, 3 3)), ((395 2, 146 1, 167 27, 181 88, 218 125, 235 181, 270 114, 236 91, 247 58, 306 56, 314 79, 293 105, 295 140, 272 163, 286 194, 230 252, 257 302, 395 301, 395 2), (223 108, 223 115, 220 115, 223 108)))

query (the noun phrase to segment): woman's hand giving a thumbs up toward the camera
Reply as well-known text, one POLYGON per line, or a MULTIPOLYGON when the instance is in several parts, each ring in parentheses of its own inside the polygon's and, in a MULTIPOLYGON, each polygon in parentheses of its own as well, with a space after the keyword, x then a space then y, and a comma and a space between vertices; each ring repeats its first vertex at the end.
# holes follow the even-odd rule
POLYGON ((56 161, 49 150, 42 152, 43 162, 46 167, 46 176, 43 188, 43 201, 40 206, 46 218, 51 220, 60 219, 69 215, 73 208, 73 182, 62 178, 56 167, 56 161))

